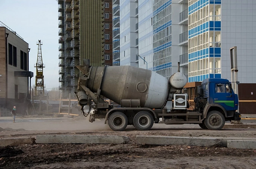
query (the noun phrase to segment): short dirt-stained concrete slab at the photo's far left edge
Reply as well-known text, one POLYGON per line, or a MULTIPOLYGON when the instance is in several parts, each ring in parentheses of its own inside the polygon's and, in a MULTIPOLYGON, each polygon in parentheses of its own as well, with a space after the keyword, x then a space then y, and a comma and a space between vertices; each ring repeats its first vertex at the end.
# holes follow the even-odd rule
POLYGON ((3 146, 19 146, 21 144, 33 144, 35 138, 11 138, 11 139, 0 139, 0 147, 3 146))

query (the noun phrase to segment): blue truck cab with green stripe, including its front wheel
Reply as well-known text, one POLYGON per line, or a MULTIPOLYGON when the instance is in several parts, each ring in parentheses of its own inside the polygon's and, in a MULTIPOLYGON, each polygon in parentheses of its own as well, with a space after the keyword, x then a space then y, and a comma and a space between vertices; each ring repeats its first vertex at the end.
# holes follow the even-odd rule
POLYGON ((204 79, 201 86, 197 87, 197 93, 198 97, 194 99, 195 110, 201 112, 204 119, 200 127, 219 130, 225 121, 241 120, 241 115, 237 112, 238 95, 227 79, 204 79))

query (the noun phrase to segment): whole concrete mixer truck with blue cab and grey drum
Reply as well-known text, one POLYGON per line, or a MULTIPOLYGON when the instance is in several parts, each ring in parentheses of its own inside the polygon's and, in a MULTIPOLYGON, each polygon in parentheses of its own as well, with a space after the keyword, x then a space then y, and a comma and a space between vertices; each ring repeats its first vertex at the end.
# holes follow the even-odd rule
POLYGON ((123 131, 127 125, 150 130, 154 123, 199 124, 202 129, 220 130, 225 121, 241 119, 236 111, 238 96, 227 79, 203 80, 197 87, 195 108, 188 110, 187 78, 179 67, 167 79, 133 66, 94 67, 84 62, 87 64, 77 66, 82 72, 76 92, 82 113, 91 122, 105 118, 105 124, 114 131, 123 131), (88 105, 89 111, 84 112, 88 105))

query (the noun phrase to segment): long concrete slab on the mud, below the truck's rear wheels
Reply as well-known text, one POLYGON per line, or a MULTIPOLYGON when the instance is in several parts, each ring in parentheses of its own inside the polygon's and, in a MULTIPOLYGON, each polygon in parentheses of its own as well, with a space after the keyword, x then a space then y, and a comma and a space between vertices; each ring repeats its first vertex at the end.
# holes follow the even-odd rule
POLYGON ((98 135, 38 135, 36 143, 74 143, 74 144, 123 144, 128 143, 127 136, 98 136, 98 135))

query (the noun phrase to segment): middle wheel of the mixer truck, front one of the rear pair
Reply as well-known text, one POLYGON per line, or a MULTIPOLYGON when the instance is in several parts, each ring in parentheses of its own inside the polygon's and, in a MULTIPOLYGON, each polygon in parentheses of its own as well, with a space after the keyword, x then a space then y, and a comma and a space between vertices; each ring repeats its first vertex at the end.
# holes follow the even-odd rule
POLYGON ((150 130, 154 124, 154 119, 147 111, 140 111, 134 116, 133 124, 138 130, 150 130))

